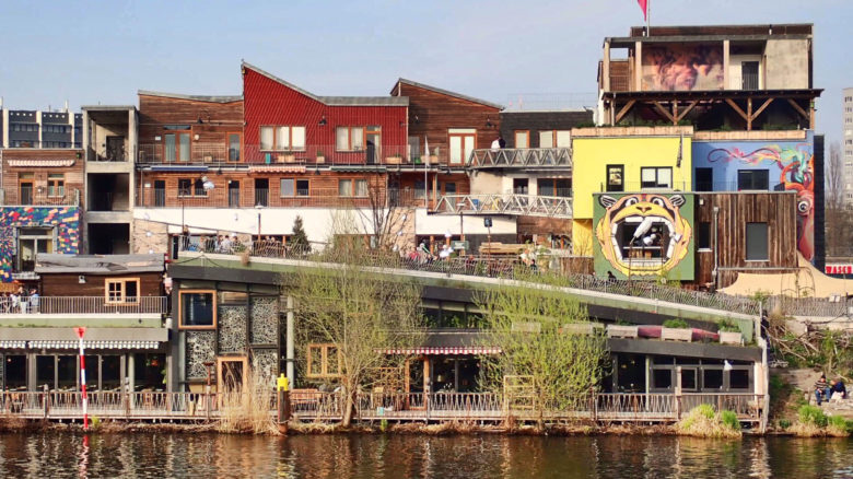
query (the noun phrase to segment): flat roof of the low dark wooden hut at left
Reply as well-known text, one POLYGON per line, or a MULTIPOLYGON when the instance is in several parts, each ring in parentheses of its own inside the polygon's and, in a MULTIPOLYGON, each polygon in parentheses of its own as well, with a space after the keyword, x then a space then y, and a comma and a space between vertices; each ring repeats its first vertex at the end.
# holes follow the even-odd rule
POLYGON ((73 272, 126 274, 164 271, 163 255, 59 255, 38 254, 35 271, 40 274, 73 272))

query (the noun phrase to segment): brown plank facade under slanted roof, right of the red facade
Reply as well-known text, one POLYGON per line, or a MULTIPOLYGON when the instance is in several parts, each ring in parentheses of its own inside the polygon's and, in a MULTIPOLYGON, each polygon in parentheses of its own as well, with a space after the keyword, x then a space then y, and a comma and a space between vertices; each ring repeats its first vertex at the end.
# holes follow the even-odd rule
POLYGON ((399 82, 393 95, 409 97, 409 136, 418 137, 421 152, 424 138, 429 138, 430 151, 439 148, 439 161, 447 163, 451 128, 475 128, 475 148, 489 148, 501 129, 500 109, 475 103, 433 90, 399 82), (491 127, 487 127, 487 121, 491 127))

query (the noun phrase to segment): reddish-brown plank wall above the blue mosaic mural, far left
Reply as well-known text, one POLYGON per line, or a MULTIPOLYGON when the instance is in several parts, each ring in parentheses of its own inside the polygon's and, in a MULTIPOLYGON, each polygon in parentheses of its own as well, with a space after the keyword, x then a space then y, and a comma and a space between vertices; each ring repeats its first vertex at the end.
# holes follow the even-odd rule
POLYGON ((39 149, 7 149, 3 150, 3 183, 0 187, 5 191, 5 203, 17 205, 20 202, 20 175, 22 173, 33 173, 35 175, 35 188, 45 188, 43 194, 38 196, 47 196, 47 175, 51 173, 62 173, 66 175, 66 195, 71 194, 74 189, 80 190, 81 207, 83 199, 85 198, 83 191, 84 180, 84 161, 78 159, 78 154, 82 157, 82 150, 39 150, 39 149), (72 160, 74 164, 72 166, 62 167, 12 167, 9 166, 11 160, 30 160, 30 161, 50 161, 50 160, 72 160))

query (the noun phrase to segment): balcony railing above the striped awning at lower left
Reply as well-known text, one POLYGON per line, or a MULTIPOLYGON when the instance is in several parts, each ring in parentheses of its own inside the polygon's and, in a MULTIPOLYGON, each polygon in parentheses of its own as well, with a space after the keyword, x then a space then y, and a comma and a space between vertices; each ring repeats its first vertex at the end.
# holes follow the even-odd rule
POLYGON ((0 297, 0 315, 164 314, 166 296, 137 296, 109 302, 104 296, 0 297))

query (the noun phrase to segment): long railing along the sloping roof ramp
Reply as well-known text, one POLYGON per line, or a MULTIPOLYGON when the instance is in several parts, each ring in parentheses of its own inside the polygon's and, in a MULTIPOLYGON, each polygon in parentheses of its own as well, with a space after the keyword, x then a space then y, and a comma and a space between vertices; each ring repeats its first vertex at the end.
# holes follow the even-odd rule
MULTIPOLYGON (((319 264, 344 264, 353 260, 351 252, 325 248, 313 253, 294 252, 287 245, 271 246, 268 241, 233 243, 223 250, 215 247, 215 238, 200 242, 198 236, 184 236, 179 242, 180 250, 199 253, 220 253, 239 255, 248 250, 249 256, 294 258, 319 264)), ((746 315, 758 315, 759 303, 749 297, 732 296, 721 292, 705 293, 686 290, 651 281, 608 280, 595 274, 582 274, 547 269, 547 265, 530 267, 517 257, 476 257, 437 259, 432 255, 411 252, 410 254, 389 254, 370 252, 359 259, 363 266, 410 271, 430 271, 446 274, 476 276, 513 279, 518 281, 542 282, 553 285, 597 291, 624 296, 646 297, 663 302, 722 309, 746 315)))

